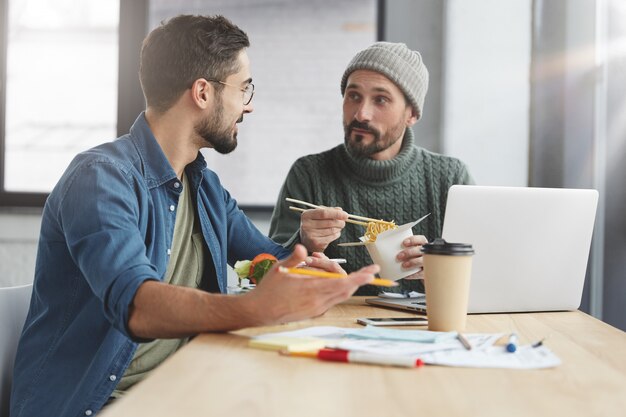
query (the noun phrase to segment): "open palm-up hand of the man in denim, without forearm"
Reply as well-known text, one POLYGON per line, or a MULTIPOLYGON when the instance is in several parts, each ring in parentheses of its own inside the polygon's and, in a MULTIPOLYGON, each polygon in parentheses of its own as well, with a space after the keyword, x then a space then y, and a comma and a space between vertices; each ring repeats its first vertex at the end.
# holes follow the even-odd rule
MULTIPOLYGON (((345 278, 315 278, 279 271, 279 267, 292 268, 306 259, 306 249, 296 245, 292 255, 274 264, 263 281, 246 297, 248 314, 259 318, 257 325, 270 325, 316 317, 330 307, 348 299, 361 285, 368 284, 378 272, 370 265, 345 278)), ((318 256, 308 259, 311 266, 327 271, 341 270, 335 262, 318 256)))

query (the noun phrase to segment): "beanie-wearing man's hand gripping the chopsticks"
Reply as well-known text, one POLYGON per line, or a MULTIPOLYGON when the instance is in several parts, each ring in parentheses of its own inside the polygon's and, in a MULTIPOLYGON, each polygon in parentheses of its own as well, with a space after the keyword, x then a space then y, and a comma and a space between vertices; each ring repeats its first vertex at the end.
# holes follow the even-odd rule
POLYGON ((307 210, 300 217, 300 241, 309 252, 323 252, 339 239, 347 219, 348 213, 339 207, 307 210))

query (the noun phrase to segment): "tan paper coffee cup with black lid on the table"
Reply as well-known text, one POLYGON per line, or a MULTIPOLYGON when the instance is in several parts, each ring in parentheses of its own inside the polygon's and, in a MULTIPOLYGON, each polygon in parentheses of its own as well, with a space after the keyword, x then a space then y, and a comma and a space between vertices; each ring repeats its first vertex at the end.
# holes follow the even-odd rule
POLYGON ((472 255, 467 243, 435 239, 422 246, 428 330, 465 330, 472 255))

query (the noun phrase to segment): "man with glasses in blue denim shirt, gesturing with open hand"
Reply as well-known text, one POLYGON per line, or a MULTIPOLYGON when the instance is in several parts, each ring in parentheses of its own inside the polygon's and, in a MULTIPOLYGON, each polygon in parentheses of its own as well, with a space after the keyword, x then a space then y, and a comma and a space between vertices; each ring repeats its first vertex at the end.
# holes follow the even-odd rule
POLYGON ((145 39, 146 111, 79 154, 46 202, 11 416, 93 415, 195 334, 317 316, 374 278, 376 266, 341 280, 279 271, 304 247, 263 236, 207 168, 200 148, 234 150, 253 111, 248 46, 221 16, 179 16, 145 39), (227 263, 262 252, 283 261, 223 295, 227 263))

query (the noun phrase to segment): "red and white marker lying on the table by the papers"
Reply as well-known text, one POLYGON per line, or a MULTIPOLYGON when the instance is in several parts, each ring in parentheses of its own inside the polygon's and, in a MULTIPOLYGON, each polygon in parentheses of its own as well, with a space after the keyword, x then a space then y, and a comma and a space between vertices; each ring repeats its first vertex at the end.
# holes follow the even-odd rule
POLYGON ((365 363, 371 365, 401 366, 404 368, 419 368, 424 365, 420 358, 412 356, 379 355, 367 352, 351 352, 343 349, 320 349, 317 352, 279 352, 285 356, 300 356, 317 358, 331 362, 365 363))

